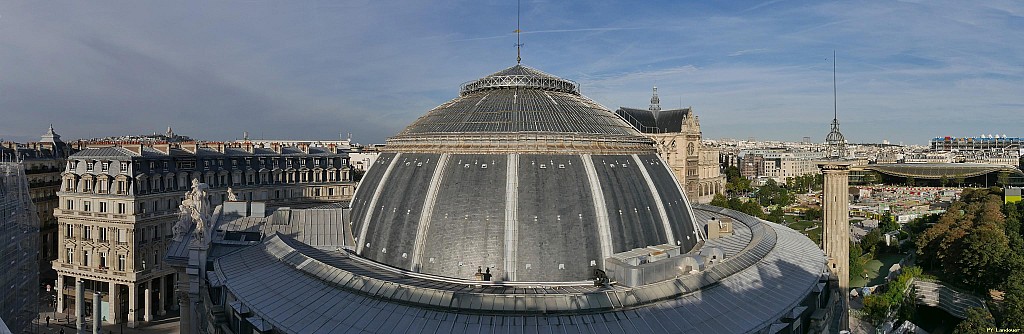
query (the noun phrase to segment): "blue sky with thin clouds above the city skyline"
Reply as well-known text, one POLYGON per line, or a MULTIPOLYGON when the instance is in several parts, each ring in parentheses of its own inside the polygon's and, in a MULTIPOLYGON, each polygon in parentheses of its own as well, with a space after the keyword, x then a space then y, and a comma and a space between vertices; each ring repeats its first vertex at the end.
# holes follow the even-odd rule
MULTIPOLYGON (((515 1, 0 3, 0 138, 383 142, 515 64, 515 1)), ((1020 1, 524 1, 523 64, 708 138, 1024 136, 1020 1)))

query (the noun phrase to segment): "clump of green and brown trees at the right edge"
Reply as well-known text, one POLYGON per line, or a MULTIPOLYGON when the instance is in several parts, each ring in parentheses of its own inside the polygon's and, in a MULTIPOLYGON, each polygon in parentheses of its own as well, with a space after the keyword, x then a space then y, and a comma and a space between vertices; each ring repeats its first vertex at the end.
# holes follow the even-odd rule
POLYGON ((1004 328, 1024 328, 1024 204, 1004 204, 1001 192, 965 190, 945 213, 916 219, 907 229, 919 264, 981 296, 1002 291, 998 317, 989 318, 1004 328))

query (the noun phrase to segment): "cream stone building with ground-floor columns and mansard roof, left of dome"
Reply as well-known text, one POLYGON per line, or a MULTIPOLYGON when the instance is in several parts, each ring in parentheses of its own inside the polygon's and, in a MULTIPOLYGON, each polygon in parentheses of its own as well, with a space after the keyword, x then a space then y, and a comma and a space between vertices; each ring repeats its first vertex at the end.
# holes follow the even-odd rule
POLYGON ((211 186, 212 203, 231 196, 271 205, 339 202, 355 186, 336 145, 93 143, 68 159, 57 193, 57 309, 80 302, 77 285, 87 299, 101 294, 100 317, 111 324, 134 327, 176 307, 176 273, 163 254, 194 180, 211 186))

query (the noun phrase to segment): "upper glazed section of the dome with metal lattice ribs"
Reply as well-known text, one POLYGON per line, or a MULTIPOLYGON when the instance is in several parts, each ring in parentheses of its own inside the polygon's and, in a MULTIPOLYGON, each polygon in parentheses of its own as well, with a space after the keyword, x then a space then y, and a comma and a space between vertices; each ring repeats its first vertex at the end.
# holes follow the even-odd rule
MULTIPOLYGON (((402 147, 408 141, 451 142, 445 138, 451 135, 493 137, 493 144, 507 145, 510 140, 526 139, 523 134, 553 141, 570 136, 605 147, 628 142, 629 148, 620 151, 629 153, 647 153, 649 150, 642 147, 652 147, 650 139, 620 116, 581 95, 577 83, 523 66, 463 85, 459 97, 389 138, 388 147, 402 147)), ((556 151, 562 150, 548 152, 556 151)))

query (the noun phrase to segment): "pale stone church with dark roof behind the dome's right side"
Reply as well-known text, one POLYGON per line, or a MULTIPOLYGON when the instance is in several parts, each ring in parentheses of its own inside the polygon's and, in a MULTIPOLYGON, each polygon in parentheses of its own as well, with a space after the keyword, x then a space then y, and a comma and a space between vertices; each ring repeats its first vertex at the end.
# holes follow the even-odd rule
POLYGON ((658 156, 692 201, 710 203, 725 194, 719 150, 701 142, 700 120, 692 108, 662 110, 654 87, 647 110, 621 107, 615 114, 655 141, 658 156))

